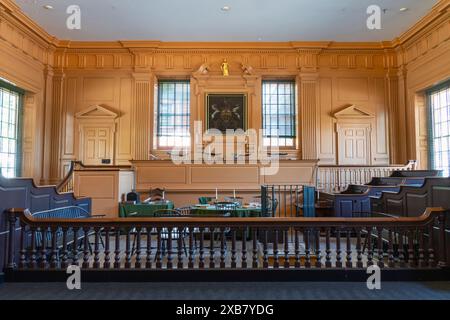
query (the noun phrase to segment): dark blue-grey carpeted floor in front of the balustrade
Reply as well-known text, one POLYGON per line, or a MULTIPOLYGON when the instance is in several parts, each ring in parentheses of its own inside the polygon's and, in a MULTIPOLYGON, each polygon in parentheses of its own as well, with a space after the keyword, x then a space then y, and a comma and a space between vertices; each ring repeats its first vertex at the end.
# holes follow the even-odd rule
POLYGON ((257 283, 4 283, 0 299, 125 300, 450 300, 450 282, 384 282, 368 290, 356 282, 257 283))

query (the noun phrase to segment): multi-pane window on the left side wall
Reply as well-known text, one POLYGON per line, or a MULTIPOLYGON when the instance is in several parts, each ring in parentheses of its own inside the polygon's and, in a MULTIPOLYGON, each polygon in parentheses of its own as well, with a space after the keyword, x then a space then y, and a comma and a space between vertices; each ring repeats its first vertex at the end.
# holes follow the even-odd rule
POLYGON ((0 80, 0 173, 20 176, 20 116, 22 94, 0 80))

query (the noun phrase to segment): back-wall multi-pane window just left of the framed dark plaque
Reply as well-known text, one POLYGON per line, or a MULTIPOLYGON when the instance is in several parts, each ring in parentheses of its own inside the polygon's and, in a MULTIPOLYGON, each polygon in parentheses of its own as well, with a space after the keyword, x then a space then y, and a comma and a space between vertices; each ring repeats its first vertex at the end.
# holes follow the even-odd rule
POLYGON ((156 112, 156 147, 190 146, 189 81, 159 81, 156 112))

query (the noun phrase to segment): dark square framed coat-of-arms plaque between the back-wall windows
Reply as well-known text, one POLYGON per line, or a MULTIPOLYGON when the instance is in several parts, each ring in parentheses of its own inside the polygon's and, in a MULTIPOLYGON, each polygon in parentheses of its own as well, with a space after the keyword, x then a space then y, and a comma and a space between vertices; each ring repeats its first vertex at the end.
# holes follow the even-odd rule
POLYGON ((206 130, 247 130, 247 95, 245 93, 206 94, 206 130))

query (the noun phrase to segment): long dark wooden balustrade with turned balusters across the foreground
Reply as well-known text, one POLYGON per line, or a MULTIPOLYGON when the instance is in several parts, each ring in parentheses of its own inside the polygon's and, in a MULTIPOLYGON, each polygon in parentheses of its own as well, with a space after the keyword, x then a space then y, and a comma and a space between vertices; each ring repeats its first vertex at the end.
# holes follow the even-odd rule
POLYGON ((21 227, 19 239, 8 242, 7 270, 12 272, 65 270, 68 265, 83 270, 361 269, 374 264, 384 269, 426 269, 450 265, 445 244, 449 212, 440 208, 427 209, 415 218, 55 220, 34 219, 18 209, 9 210, 8 215, 10 235, 21 227), (68 236, 80 233, 86 236, 68 236), (274 240, 268 241, 269 237, 274 240))

